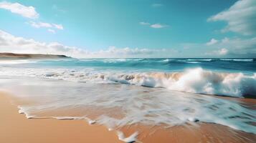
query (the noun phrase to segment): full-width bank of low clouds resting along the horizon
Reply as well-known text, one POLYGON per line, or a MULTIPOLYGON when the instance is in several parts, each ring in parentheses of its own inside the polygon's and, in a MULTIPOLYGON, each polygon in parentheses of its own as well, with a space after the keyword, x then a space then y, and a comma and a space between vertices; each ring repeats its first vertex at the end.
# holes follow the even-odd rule
POLYGON ((125 58, 125 57, 255 57, 256 37, 248 39, 224 38, 207 46, 202 44, 183 44, 176 49, 118 48, 110 46, 100 51, 88 51, 75 46, 65 46, 58 42, 41 42, 24 39, 0 30, 0 52, 65 54, 80 58, 125 58), (184 48, 186 47, 186 48, 184 48))

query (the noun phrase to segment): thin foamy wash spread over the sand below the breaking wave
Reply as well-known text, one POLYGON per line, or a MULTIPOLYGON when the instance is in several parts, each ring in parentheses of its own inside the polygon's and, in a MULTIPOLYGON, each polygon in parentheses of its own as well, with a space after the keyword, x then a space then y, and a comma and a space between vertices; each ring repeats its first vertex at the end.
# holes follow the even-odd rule
MULTIPOLYGON (((179 76, 173 78, 179 79, 179 76)), ((97 121, 110 130, 138 123, 172 127, 210 122, 256 133, 255 125, 251 124, 255 122, 255 110, 239 102, 207 95, 125 84, 89 84, 37 78, 1 79, 0 89, 9 90, 18 98, 35 101, 34 104, 19 107, 19 112, 28 118, 41 117, 40 113, 44 113, 44 117, 57 119, 85 119, 89 124, 97 121), (87 119, 90 117, 87 117, 87 107, 101 114, 95 119, 87 119), (47 115, 47 112, 60 109, 70 112, 59 116, 47 115), (73 114, 77 111, 85 112, 73 114)))

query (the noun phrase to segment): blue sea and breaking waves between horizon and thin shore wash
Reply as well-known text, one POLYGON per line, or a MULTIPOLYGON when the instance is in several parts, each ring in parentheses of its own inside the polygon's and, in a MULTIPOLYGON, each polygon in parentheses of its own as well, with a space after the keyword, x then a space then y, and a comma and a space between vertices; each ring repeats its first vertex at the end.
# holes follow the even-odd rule
POLYGON ((0 75, 256 96, 255 59, 61 59, 0 62, 0 75))

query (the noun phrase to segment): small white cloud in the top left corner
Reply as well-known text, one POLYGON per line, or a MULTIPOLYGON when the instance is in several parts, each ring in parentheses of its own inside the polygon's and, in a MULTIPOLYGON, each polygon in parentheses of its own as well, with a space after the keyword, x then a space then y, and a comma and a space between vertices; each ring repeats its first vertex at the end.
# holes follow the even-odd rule
POLYGON ((3 1, 0 2, 0 9, 9 10, 14 14, 19 14, 29 19, 37 19, 39 17, 39 14, 33 6, 24 6, 19 3, 10 3, 3 1))

